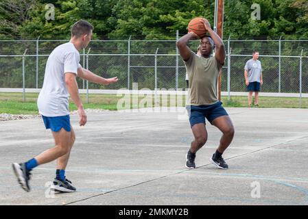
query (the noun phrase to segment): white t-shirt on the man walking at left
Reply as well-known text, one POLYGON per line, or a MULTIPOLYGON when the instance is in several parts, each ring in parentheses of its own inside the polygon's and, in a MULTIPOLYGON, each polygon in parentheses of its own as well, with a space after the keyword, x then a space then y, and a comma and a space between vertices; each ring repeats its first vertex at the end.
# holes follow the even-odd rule
POLYGON ((69 115, 69 92, 64 73, 75 73, 81 67, 80 54, 72 42, 56 47, 48 57, 43 88, 38 95, 38 110, 43 116, 69 115))

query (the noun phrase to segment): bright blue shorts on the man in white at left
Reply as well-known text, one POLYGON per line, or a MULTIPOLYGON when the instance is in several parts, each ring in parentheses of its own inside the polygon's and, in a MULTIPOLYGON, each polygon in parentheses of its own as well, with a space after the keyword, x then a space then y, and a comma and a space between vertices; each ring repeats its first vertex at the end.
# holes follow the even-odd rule
POLYGON ((69 121, 69 115, 54 116, 54 117, 48 117, 42 115, 42 118, 44 120, 46 129, 51 129, 51 131, 57 132, 63 128, 65 129, 65 131, 71 131, 71 123, 69 121))

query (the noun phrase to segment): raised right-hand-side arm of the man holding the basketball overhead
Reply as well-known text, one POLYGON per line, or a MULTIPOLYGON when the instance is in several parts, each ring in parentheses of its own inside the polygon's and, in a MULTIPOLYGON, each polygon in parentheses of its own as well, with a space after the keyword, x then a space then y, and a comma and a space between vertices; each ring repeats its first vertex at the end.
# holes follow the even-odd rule
POLYGON ((215 51, 215 58, 218 62, 220 62, 220 64, 224 64, 224 60, 226 58, 226 51, 224 48, 224 42, 222 42, 222 39, 220 38, 220 36, 218 36, 213 29, 211 29, 211 25, 209 23, 209 21, 207 21, 205 18, 202 18, 202 21, 204 23, 204 27, 206 29, 206 31, 208 31, 208 33, 210 34, 211 38, 213 39, 214 43, 215 43, 215 47, 216 47, 216 51, 215 51))

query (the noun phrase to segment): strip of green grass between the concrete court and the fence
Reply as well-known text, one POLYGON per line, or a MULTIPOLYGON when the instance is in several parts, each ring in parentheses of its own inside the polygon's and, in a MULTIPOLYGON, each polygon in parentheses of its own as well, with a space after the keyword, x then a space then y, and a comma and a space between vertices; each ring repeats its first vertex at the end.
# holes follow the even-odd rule
MULTIPOLYGON (((26 102, 23 103, 22 93, 0 93, 0 114, 38 114, 38 108, 36 105, 36 99, 38 94, 27 93, 25 94, 26 102)), ((138 103, 145 96, 139 96, 138 103)), ((123 96, 116 96, 115 94, 89 94, 89 103, 86 103, 86 94, 81 94, 82 102, 84 103, 84 108, 91 109, 102 109, 102 110, 117 110, 117 103, 123 96)), ((134 103, 133 99, 137 99, 137 96, 130 98, 130 103, 134 103)), ((129 99, 128 99, 129 101, 129 99)), ((162 101, 161 101, 162 102, 162 101)), ((228 101, 228 96, 222 96, 222 102, 224 107, 247 107, 247 96, 232 96, 230 101, 228 101)), ((308 98, 303 98, 301 101, 302 108, 308 108, 308 98)), ((154 98, 152 101, 154 105, 154 98)), ((161 103, 162 105, 162 103, 161 103)), ((171 99, 168 97, 168 106, 176 106, 175 97, 172 96, 171 99)), ((185 106, 185 96, 183 96, 182 104, 178 106, 185 106)), ((142 106, 141 106, 142 107, 142 106)), ((259 107, 286 107, 286 108, 299 108, 300 99, 297 97, 268 97, 261 96, 259 100, 259 107)), ((137 105, 128 105, 125 109, 137 108, 137 105)), ((76 110, 75 105, 70 103, 70 110, 76 110)))

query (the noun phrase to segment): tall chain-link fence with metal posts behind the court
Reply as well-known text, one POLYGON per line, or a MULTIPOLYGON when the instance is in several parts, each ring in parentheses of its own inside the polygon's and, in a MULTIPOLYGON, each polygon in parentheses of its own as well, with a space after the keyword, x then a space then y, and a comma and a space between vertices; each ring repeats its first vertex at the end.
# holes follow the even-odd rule
MULTIPOLYGON (((0 40, 0 90, 41 88, 48 55, 67 40, 0 40), (24 55, 23 55, 24 54, 24 55)), ((198 41, 189 47, 196 51, 198 41)), ((263 68, 261 92, 268 96, 308 96, 308 40, 224 40, 222 92, 246 95, 244 66, 257 49, 263 68)), ((185 89, 185 65, 176 40, 92 40, 80 51, 80 64, 102 77, 119 77, 108 86, 78 79, 84 90, 185 89)), ((224 95, 223 94, 223 95, 224 95)))

